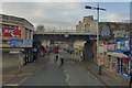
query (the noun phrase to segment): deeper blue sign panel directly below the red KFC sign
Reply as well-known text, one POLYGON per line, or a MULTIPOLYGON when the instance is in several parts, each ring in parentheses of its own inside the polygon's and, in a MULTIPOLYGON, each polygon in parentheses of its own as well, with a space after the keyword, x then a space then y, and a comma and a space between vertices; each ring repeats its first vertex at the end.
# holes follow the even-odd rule
POLYGON ((23 47, 23 40, 11 38, 10 45, 11 47, 23 47))

